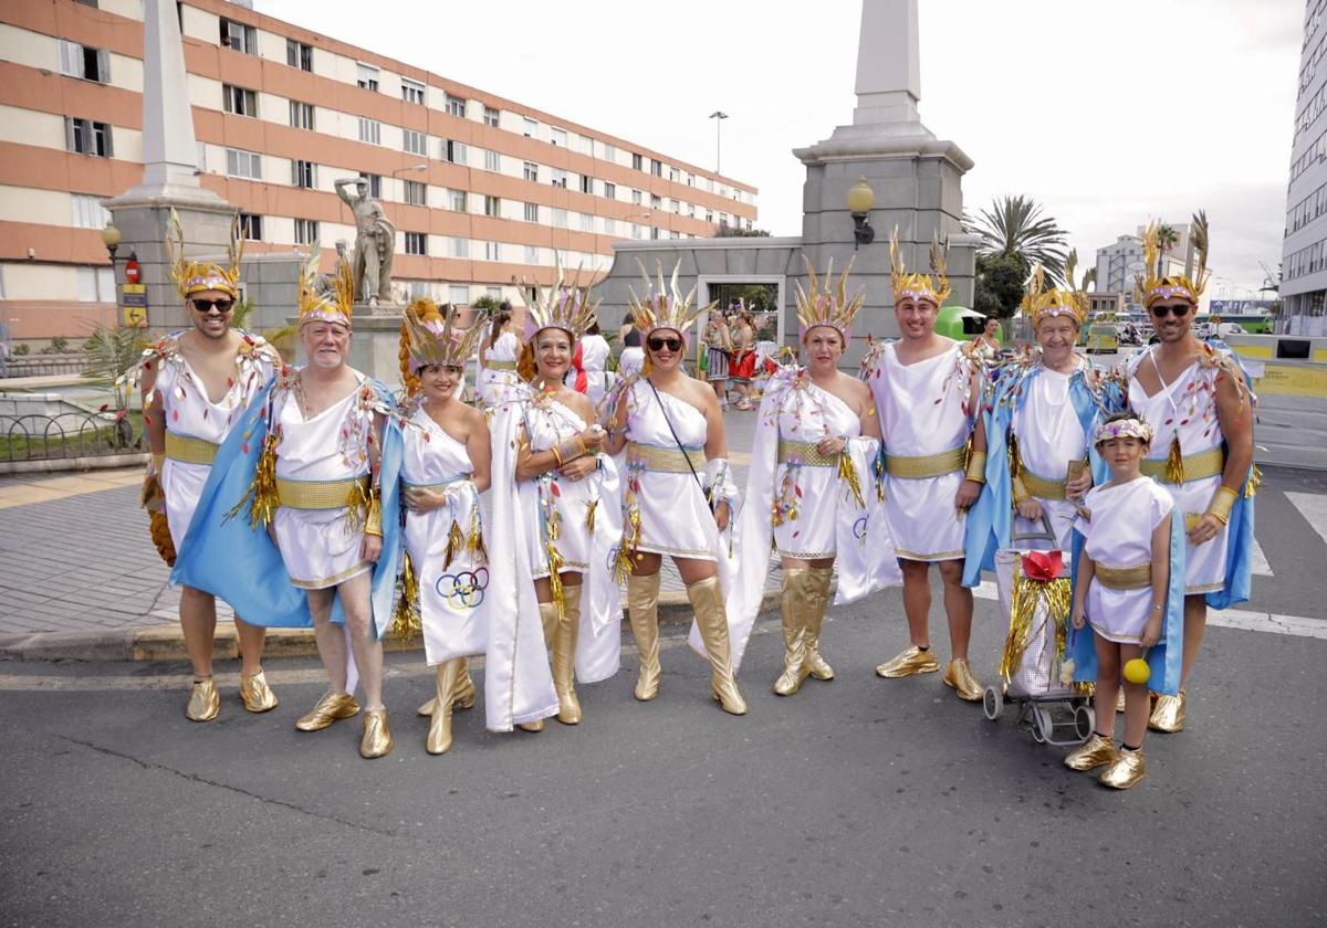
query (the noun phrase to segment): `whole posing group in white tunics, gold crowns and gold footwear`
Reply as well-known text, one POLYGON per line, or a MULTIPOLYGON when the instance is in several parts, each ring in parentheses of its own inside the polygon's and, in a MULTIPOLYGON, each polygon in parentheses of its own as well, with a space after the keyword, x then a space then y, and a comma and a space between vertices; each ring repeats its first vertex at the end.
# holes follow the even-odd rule
POLYGON ((808 262, 796 294, 802 362, 786 357, 763 378, 744 492, 717 396, 679 369, 713 304, 682 293, 675 269, 632 292, 641 370, 609 380, 600 346, 579 347, 598 304, 557 268, 552 286, 535 288, 523 338, 494 326, 476 410, 463 400, 464 370, 486 325, 462 329, 455 308, 413 302, 393 395, 348 367, 350 269, 342 260, 322 276, 314 253, 299 306, 309 363, 293 369, 230 327, 238 228, 228 266, 186 260, 180 241, 176 223, 167 244, 195 329, 161 339, 125 379, 143 391, 154 538, 187 593, 195 721, 220 705, 212 597, 243 626, 245 708, 276 705, 261 630, 312 626, 328 691, 297 728, 362 713, 365 757, 394 744, 382 696, 389 632, 422 636, 434 668, 419 709, 430 753, 451 748, 453 711, 476 701, 470 658, 484 662, 490 730, 579 724, 577 685, 620 669, 624 590, 640 654, 634 695, 653 700, 665 555, 686 586, 710 695, 731 715, 747 712, 736 672, 772 555, 784 640, 774 692, 832 680, 831 601, 890 586, 904 589, 912 640, 877 673, 938 672, 936 565, 951 646, 942 679, 975 701, 990 688, 969 663, 971 587, 1005 558, 1014 601, 997 685, 1007 691, 1024 669, 1080 693, 1095 683, 1096 730, 1066 764, 1105 768, 1100 781, 1123 789, 1144 776, 1143 729, 1184 726, 1208 605, 1249 595, 1254 400, 1234 357, 1184 326, 1208 277, 1201 215, 1197 266, 1182 276, 1160 276, 1148 229, 1137 284, 1162 341, 1115 371, 1072 350, 1088 304, 1072 256, 1064 286, 1048 286, 1040 268, 1028 281, 1022 312, 1038 347, 991 361, 934 333, 950 290, 943 247, 933 243, 930 273, 909 273, 896 233, 902 338, 869 345, 860 379, 847 377, 839 359, 864 297, 849 293, 847 270, 836 277, 831 264, 821 276, 808 262), (200 358, 234 373, 200 377, 200 358), (597 402, 564 380, 576 378, 597 402), (1030 658, 1034 640, 1048 643, 1044 655, 1038 644, 1030 658), (1133 668, 1143 662, 1147 685, 1133 668))

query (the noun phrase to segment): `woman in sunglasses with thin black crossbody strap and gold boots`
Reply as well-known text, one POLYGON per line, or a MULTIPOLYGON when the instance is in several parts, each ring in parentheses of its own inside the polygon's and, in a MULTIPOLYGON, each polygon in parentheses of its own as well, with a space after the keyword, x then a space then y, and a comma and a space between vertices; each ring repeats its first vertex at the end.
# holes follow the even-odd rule
POLYGON ((744 715, 733 676, 740 646, 731 642, 725 607, 736 569, 730 521, 738 494, 723 414, 714 391, 681 371, 685 333, 713 304, 693 310, 695 292, 683 297, 677 274, 674 269, 666 290, 660 270, 658 289, 645 301, 632 292, 630 312, 648 350, 645 377, 624 382, 606 404, 613 418, 605 448, 614 455, 625 449, 624 532, 616 561, 626 578, 632 634, 641 652, 636 699, 658 695, 660 567, 667 554, 695 612, 691 647, 710 660, 710 695, 726 712, 744 715))

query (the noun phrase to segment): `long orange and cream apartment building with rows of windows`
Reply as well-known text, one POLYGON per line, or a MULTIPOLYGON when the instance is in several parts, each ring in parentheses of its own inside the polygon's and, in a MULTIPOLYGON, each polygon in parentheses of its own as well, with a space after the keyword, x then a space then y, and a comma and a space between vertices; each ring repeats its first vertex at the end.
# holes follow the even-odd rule
MULTIPOLYGON (((511 297, 614 240, 751 228, 756 190, 605 131, 224 0, 178 5, 202 183, 249 253, 354 240, 334 183, 397 225, 398 294, 511 297)), ((101 200, 142 178, 139 0, 0 4, 0 322, 77 335, 114 317, 101 200)), ((119 256, 123 259, 123 256, 119 256)))

